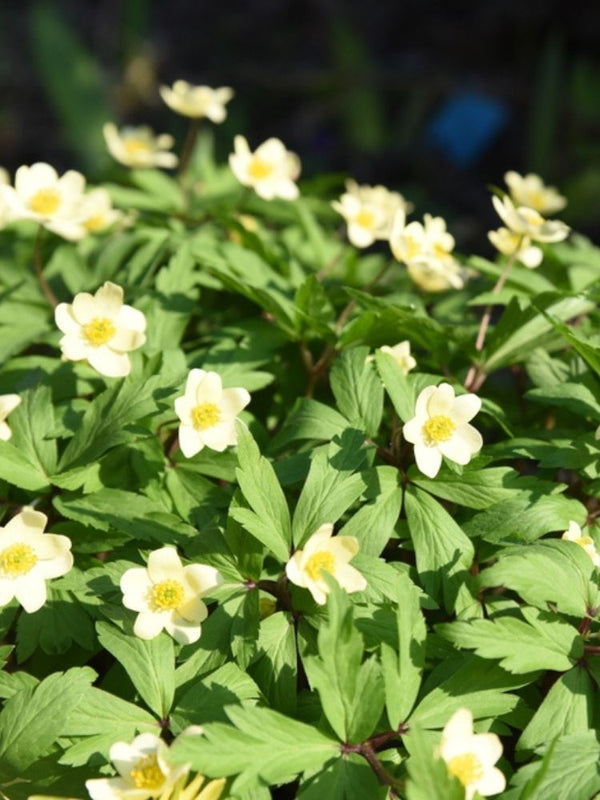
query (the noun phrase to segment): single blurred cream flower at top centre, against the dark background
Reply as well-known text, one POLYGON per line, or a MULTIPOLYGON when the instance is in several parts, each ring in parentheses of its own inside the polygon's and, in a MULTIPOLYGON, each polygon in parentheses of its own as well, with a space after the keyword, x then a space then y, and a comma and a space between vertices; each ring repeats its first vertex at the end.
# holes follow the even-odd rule
POLYGON ((263 200, 274 197, 295 200, 298 197, 294 181, 300 175, 300 159, 286 150, 282 141, 267 139, 252 153, 246 138, 236 136, 233 147, 229 166, 242 186, 252 187, 263 200))

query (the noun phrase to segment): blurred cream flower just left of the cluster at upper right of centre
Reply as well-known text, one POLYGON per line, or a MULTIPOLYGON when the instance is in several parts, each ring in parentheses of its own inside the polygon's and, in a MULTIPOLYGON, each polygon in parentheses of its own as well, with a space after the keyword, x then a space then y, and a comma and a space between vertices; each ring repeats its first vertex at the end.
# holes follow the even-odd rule
POLYGON ((354 181, 346 181, 346 192, 331 205, 346 220, 348 239, 355 247, 389 239, 396 212, 409 210, 398 192, 385 186, 359 186, 354 181))

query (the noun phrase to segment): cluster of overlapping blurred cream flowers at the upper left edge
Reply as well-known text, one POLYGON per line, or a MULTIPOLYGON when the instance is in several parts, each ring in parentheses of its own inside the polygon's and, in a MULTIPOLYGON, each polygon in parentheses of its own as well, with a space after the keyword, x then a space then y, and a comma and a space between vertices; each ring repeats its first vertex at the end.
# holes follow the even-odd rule
POLYGON ((105 230, 121 218, 105 189, 86 193, 85 188, 85 178, 75 170, 59 176, 54 167, 43 162, 19 167, 14 186, 0 185, 0 221, 30 220, 63 239, 76 241, 105 230))

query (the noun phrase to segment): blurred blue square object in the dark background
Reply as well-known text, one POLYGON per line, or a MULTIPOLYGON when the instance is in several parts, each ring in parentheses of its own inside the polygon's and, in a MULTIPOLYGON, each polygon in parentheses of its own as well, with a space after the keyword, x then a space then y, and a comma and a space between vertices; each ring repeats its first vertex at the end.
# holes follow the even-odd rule
POLYGON ((508 107, 480 92, 455 92, 427 126, 427 140, 455 164, 470 167, 506 127, 508 107))

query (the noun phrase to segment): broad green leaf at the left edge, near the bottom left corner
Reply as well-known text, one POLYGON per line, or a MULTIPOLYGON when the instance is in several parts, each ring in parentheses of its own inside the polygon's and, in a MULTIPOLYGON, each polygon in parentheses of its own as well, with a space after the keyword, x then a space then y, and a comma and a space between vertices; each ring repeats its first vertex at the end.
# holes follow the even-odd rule
POLYGON ((88 667, 55 672, 6 701, 0 713, 0 776, 20 777, 46 753, 95 677, 88 667))

